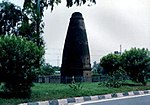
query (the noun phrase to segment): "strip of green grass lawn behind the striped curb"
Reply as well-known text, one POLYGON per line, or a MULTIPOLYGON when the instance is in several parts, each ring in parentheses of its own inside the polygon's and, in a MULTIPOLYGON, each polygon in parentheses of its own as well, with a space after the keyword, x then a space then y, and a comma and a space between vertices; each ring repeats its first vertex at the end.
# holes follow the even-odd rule
POLYGON ((68 97, 101 95, 101 94, 128 92, 136 90, 150 90, 149 85, 148 86, 126 85, 120 88, 108 88, 100 86, 98 84, 99 83, 81 83, 82 89, 74 91, 72 88, 69 87, 68 84, 36 83, 35 86, 32 87, 32 95, 30 99, 0 98, 0 105, 16 105, 19 103, 61 99, 68 97))

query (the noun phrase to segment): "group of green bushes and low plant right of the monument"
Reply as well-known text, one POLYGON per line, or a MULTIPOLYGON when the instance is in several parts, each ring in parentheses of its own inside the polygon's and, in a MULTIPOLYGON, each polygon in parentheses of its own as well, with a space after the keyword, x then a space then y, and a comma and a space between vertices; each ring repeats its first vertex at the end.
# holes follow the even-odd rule
POLYGON ((131 48, 123 54, 110 53, 100 60, 103 73, 110 78, 104 85, 120 87, 123 80, 146 85, 150 79, 150 51, 145 48, 131 48))

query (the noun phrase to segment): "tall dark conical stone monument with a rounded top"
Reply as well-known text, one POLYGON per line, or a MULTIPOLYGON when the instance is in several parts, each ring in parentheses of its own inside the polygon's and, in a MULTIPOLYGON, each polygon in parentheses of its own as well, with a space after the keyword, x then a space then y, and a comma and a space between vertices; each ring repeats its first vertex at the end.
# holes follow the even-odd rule
POLYGON ((72 77, 91 78, 91 64, 87 34, 82 14, 75 12, 70 18, 61 65, 61 82, 72 77))

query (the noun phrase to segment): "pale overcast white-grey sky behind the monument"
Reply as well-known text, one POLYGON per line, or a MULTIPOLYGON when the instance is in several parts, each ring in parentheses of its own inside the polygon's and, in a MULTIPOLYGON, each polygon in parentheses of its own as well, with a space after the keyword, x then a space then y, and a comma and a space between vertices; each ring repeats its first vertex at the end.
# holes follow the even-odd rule
MULTIPOLYGON (((2 0, 0 0, 2 1, 2 0)), ((9 0, 22 6, 24 0, 9 0)), ((69 21, 81 12, 88 37, 91 64, 100 58, 132 47, 150 49, 150 0, 96 0, 96 5, 66 7, 66 0, 44 13, 46 62, 61 66, 69 21)))

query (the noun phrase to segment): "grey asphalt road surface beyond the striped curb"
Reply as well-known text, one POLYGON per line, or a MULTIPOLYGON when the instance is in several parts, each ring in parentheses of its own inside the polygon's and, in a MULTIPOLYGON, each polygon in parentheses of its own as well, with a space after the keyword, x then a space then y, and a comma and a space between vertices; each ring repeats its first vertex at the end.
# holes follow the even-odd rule
POLYGON ((150 105, 150 95, 81 105, 150 105))

